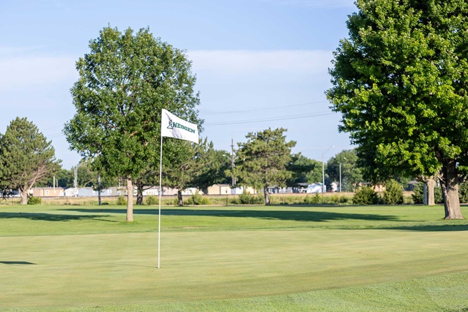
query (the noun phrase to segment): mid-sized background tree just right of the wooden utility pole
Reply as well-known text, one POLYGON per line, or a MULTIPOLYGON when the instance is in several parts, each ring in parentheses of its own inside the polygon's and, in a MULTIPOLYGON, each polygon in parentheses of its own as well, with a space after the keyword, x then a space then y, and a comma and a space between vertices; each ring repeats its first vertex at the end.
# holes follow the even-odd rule
POLYGON ((237 176, 244 186, 263 188, 265 205, 270 205, 268 187, 285 186, 292 175, 287 165, 291 163, 291 149, 295 142, 286 142, 285 131, 284 128, 268 128, 249 133, 247 142, 238 143, 237 176))

